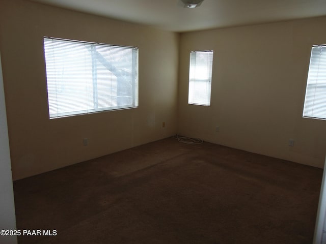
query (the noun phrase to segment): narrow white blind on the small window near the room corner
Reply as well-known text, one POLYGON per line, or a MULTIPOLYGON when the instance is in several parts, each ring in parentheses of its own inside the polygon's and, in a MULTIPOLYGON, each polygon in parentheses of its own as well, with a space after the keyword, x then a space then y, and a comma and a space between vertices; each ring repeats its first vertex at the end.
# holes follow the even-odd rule
POLYGON ((188 103, 210 106, 213 51, 190 53, 188 103))

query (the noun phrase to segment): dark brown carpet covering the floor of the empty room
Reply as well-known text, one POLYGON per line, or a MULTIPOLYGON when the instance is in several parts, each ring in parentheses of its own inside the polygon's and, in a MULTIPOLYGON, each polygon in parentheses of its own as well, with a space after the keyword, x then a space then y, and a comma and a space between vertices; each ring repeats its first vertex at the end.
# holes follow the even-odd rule
POLYGON ((312 243, 322 170, 167 138, 14 182, 18 243, 312 243))

